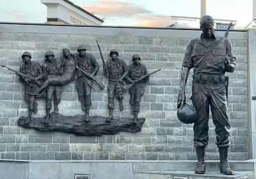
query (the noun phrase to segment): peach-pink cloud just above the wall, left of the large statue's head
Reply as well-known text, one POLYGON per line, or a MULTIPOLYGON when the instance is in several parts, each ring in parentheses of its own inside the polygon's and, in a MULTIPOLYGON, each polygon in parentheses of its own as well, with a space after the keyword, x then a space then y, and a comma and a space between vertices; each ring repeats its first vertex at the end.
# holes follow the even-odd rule
POLYGON ((172 24, 171 17, 168 15, 140 15, 138 26, 147 27, 166 27, 172 24))

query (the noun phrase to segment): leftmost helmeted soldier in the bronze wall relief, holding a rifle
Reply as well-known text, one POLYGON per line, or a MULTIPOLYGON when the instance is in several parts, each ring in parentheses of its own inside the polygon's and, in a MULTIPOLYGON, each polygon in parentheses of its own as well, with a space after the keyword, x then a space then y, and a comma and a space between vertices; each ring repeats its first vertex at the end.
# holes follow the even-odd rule
POLYGON ((22 74, 34 77, 34 81, 31 81, 24 77, 19 77, 20 81, 23 82, 23 84, 25 85, 24 98, 26 103, 28 104, 28 117, 26 118, 26 124, 28 124, 31 120, 32 113, 37 113, 38 105, 36 102, 36 97, 30 95, 30 93, 40 88, 35 81, 41 81, 43 74, 40 64, 35 61, 31 61, 31 54, 29 52, 24 52, 22 54, 22 59, 23 63, 20 66, 20 72, 22 74))

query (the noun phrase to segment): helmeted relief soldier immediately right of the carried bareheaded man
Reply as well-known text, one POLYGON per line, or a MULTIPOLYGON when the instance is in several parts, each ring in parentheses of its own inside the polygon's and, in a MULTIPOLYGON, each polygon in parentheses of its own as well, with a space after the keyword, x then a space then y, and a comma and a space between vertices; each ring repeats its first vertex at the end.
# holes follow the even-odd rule
MULTIPOLYGON (((86 72, 86 74, 89 74, 91 77, 94 77, 99 70, 99 64, 97 63, 95 57, 92 54, 86 52, 85 45, 79 45, 77 47, 77 52, 77 66, 81 68, 84 72, 86 72)), ((77 76, 78 77, 76 81, 76 89, 78 93, 78 98, 82 104, 82 109, 83 111, 85 111, 84 120, 90 121, 89 111, 90 106, 92 105, 92 79, 89 79, 80 70, 77 70, 77 76)))

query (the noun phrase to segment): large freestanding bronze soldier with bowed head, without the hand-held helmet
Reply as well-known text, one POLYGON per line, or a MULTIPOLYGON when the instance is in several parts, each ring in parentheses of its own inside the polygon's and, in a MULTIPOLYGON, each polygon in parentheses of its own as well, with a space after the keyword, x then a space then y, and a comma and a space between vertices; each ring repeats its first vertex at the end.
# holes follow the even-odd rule
POLYGON ((182 108, 186 101, 186 81, 189 70, 193 68, 192 101, 198 113, 198 121, 195 121, 193 127, 198 159, 195 173, 205 173, 205 147, 209 141, 208 122, 211 107, 212 121, 216 127, 216 144, 220 153, 220 172, 233 175, 227 161, 230 124, 228 123, 225 72, 234 72, 236 58, 230 41, 214 35, 214 20, 211 16, 205 15, 200 19, 200 29, 202 29, 202 35, 191 40, 185 52, 177 107, 182 108))

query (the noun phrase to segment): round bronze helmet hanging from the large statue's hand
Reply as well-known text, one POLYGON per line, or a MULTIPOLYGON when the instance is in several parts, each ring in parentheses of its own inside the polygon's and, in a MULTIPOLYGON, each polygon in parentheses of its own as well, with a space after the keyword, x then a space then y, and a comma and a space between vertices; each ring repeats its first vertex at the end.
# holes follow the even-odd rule
POLYGON ((198 114, 194 106, 184 104, 182 109, 178 109, 177 117, 182 123, 195 123, 198 121, 198 114))

